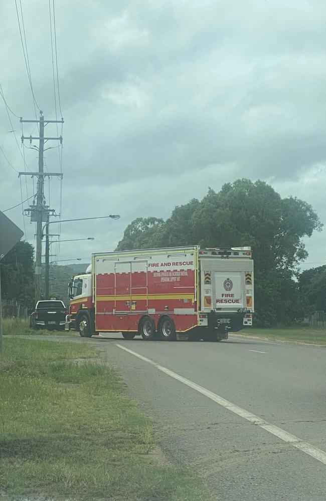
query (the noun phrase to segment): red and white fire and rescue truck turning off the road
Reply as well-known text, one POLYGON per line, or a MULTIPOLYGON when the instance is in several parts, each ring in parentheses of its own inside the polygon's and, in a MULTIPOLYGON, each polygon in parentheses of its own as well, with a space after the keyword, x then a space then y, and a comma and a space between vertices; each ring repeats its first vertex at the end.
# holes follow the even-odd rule
POLYGON ((83 337, 121 332, 125 339, 221 341, 252 325, 250 247, 198 245, 92 255, 69 284, 66 330, 83 337))

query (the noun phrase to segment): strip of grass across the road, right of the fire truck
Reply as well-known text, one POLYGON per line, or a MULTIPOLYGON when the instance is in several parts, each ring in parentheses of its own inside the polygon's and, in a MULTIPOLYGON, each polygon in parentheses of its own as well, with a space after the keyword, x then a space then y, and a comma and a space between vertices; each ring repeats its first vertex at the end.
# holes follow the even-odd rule
POLYGON ((240 334, 273 339, 275 341, 289 341, 326 346, 326 328, 298 325, 293 327, 275 327, 273 329, 243 329, 240 334))

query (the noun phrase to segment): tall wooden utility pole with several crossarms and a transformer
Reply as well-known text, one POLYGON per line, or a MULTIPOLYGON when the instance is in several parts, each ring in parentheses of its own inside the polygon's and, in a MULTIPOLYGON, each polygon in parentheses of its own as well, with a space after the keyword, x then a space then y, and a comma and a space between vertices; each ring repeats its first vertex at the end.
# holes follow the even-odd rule
MULTIPOLYGON (((60 141, 62 144, 62 136, 60 137, 45 137, 44 136, 44 127, 49 123, 63 123, 63 118, 61 120, 45 120, 43 116, 43 112, 40 111, 40 120, 23 120, 21 118, 21 123, 38 123, 40 124, 40 135, 39 137, 34 137, 30 135, 29 137, 25 137, 22 135, 22 143, 24 143, 24 139, 29 139, 30 144, 32 144, 33 139, 39 140, 39 171, 38 172, 20 172, 21 175, 30 175, 36 176, 37 181, 37 198, 36 205, 30 205, 28 209, 25 209, 25 212, 28 212, 31 216, 31 221, 36 221, 37 229, 36 229, 36 257, 35 257, 35 303, 37 303, 41 299, 41 271, 42 271, 42 222, 49 221, 50 212, 54 215, 55 210, 50 209, 48 205, 45 204, 44 197, 44 177, 48 176, 58 176, 62 179, 63 174, 57 172, 44 172, 44 144, 46 141, 56 140, 60 141)), ((47 242, 49 242, 49 238, 47 238, 47 242)), ((49 247, 47 245, 46 253, 49 253, 49 247)), ((46 291, 46 299, 48 299, 48 294, 46 291)))

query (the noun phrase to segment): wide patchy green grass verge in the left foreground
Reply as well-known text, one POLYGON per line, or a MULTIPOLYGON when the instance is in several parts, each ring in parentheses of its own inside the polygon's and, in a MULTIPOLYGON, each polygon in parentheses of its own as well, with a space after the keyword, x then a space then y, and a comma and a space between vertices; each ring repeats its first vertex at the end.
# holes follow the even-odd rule
POLYGON ((0 497, 208 501, 191 471, 152 451, 153 423, 90 344, 5 338, 0 497), (67 361, 78 359, 78 363, 67 361))

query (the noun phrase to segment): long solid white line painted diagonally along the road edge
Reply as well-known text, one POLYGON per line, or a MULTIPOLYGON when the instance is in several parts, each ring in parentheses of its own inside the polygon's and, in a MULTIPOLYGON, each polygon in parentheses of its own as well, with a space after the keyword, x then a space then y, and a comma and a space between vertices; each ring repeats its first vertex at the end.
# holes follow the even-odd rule
POLYGON ((318 449, 317 447, 314 447, 313 445, 309 444, 308 442, 304 442, 300 438, 296 437, 295 435, 292 435, 291 433, 288 433, 285 430, 282 430, 282 428, 278 428, 278 426, 274 426, 273 424, 270 424, 268 421, 265 421, 264 419, 261 419, 259 416, 255 416, 255 414, 252 414, 251 412, 246 411, 245 409, 242 409, 241 407, 238 407, 237 405, 233 404, 232 402, 229 402, 223 397, 220 397, 219 395, 216 395, 216 393, 213 393, 212 391, 207 390, 206 388, 203 388, 203 386, 200 386, 199 384, 193 383, 189 379, 184 378, 183 376, 180 376, 176 372, 171 371, 170 369, 167 369, 166 367, 157 364, 153 360, 150 360, 147 357, 143 357, 139 353, 136 353, 133 350, 129 350, 129 348, 125 348, 124 346, 121 346, 119 344, 116 344, 118 348, 121 348, 121 350, 124 350, 131 355, 134 355, 137 358, 140 358, 140 360, 143 360, 144 362, 147 362, 150 365, 153 365, 156 367, 161 372, 164 372, 165 374, 168 374, 168 376, 173 377, 177 381, 180 381, 181 383, 184 383, 185 385, 189 386, 193 390, 198 391, 202 395, 205 395, 206 397, 210 398, 217 404, 221 405, 225 409, 230 410, 234 414, 237 414, 240 417, 243 417, 250 423, 253 423, 260 428, 269 431, 272 435, 277 436, 284 442, 287 442, 291 444, 293 447, 296 449, 301 450, 302 452, 305 452, 305 454, 308 454, 309 456, 314 457, 318 461, 320 461, 323 464, 326 464, 326 452, 324 452, 321 449, 318 449))

